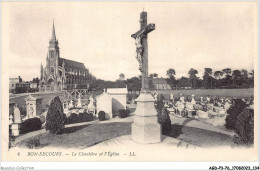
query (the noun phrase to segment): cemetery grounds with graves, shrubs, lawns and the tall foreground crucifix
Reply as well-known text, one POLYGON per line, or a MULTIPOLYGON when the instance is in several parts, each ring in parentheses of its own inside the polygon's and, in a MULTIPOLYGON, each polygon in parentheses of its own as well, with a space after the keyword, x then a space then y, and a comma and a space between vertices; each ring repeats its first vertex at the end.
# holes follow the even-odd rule
POLYGON ((184 96, 169 92, 165 98, 165 94, 149 90, 147 42, 154 30, 155 24, 147 24, 147 12, 141 12, 140 30, 131 35, 142 82, 137 98, 127 99, 127 87, 106 88, 100 94, 86 89, 62 91, 47 105, 43 105, 45 98, 29 95, 24 98, 25 116, 21 116, 17 103, 10 101, 9 146, 99 148, 118 142, 151 148, 252 146, 252 97, 196 97, 193 93, 184 96), (46 131, 36 134, 39 130, 46 131), (31 136, 22 139, 26 134, 31 136))

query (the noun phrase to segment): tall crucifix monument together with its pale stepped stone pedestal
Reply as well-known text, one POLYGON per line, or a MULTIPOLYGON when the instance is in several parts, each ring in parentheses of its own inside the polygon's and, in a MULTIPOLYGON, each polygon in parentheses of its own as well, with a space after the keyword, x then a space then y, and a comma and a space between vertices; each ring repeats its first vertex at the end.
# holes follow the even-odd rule
POLYGON ((147 25, 147 12, 140 14, 140 30, 131 37, 135 39, 136 59, 142 74, 142 89, 136 99, 134 123, 132 124, 132 140, 137 143, 161 142, 161 125, 157 122, 155 99, 149 91, 148 79, 148 33, 155 29, 155 24, 147 25))

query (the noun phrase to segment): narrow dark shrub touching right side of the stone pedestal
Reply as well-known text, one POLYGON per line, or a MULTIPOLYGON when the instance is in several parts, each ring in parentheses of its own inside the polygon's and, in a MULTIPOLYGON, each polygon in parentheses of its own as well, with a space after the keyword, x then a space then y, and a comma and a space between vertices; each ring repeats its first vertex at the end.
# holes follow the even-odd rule
POLYGON ((161 112, 158 112, 158 122, 162 127, 162 134, 166 135, 172 129, 171 119, 168 110, 164 107, 161 112))

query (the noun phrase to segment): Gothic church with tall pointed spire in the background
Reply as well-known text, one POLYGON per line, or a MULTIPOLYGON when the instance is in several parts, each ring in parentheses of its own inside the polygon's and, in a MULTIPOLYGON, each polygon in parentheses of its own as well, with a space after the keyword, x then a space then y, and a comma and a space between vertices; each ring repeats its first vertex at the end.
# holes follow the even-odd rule
POLYGON ((88 88, 89 81, 89 71, 83 63, 60 57, 59 42, 56 39, 53 23, 46 67, 43 68, 41 64, 39 89, 41 91, 62 91, 88 88))

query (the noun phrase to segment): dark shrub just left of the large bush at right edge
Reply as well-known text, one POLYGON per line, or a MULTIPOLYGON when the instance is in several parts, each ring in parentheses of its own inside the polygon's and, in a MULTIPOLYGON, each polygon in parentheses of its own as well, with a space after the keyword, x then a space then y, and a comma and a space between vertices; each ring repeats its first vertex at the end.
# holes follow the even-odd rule
POLYGON ((235 125, 237 122, 238 115, 247 107, 248 105, 241 99, 234 99, 234 105, 227 110, 226 118, 226 128, 235 130, 235 125))

